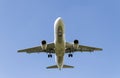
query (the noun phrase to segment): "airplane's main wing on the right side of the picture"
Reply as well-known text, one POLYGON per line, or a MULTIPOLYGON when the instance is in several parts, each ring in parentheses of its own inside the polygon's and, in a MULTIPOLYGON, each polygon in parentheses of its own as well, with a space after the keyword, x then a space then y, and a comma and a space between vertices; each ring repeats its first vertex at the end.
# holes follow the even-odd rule
POLYGON ((70 52, 94 52, 94 51, 101 51, 102 48, 96 48, 96 47, 91 47, 91 46, 84 46, 84 45, 79 45, 77 49, 73 47, 72 43, 66 43, 66 53, 70 52))

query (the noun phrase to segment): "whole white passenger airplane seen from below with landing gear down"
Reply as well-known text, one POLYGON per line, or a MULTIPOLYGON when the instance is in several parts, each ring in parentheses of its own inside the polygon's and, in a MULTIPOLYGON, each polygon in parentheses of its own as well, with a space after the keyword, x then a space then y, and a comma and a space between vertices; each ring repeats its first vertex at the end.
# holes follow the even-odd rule
POLYGON ((75 39, 73 43, 66 42, 64 22, 58 17, 54 22, 54 42, 47 43, 46 40, 41 41, 41 45, 37 47, 18 50, 18 52, 26 53, 48 53, 48 58, 52 58, 55 54, 56 65, 48 66, 47 69, 58 68, 74 68, 74 66, 64 64, 64 55, 68 53, 68 57, 73 57, 74 52, 94 52, 102 51, 102 48, 79 45, 79 41, 75 39))

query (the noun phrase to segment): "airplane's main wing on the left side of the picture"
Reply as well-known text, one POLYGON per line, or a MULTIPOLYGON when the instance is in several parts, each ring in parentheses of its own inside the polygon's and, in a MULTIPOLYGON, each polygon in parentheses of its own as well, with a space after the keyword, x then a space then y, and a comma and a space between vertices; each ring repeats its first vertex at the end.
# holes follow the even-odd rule
POLYGON ((37 46, 37 47, 32 47, 32 48, 27 48, 27 49, 22 49, 18 50, 18 52, 26 52, 26 53, 55 53, 54 51, 54 43, 47 44, 46 50, 42 50, 42 46, 37 46))

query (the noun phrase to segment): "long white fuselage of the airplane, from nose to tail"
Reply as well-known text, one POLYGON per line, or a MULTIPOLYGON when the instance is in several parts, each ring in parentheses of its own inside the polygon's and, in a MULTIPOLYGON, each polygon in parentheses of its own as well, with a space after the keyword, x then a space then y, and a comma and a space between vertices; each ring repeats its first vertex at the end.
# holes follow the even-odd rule
POLYGON ((54 23, 54 43, 56 53, 56 63, 59 69, 63 67, 64 53, 65 53, 65 34, 64 23, 61 17, 58 17, 54 23))

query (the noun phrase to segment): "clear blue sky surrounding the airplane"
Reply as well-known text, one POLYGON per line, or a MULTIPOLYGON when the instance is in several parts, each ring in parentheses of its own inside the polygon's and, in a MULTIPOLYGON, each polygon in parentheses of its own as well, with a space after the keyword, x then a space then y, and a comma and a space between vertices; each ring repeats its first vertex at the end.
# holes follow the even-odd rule
POLYGON ((120 0, 0 0, 0 78, 120 78, 120 0), (54 40, 61 16, 66 40, 103 48, 65 55, 74 69, 47 70, 54 57, 17 53, 54 40))

